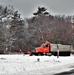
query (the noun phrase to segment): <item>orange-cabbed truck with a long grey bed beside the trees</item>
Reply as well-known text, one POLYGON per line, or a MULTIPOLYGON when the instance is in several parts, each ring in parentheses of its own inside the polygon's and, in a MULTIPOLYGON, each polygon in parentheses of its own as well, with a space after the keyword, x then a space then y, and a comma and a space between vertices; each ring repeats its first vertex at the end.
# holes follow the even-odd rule
POLYGON ((71 46, 62 44, 51 44, 49 42, 43 43, 40 47, 30 51, 30 55, 58 55, 59 56, 70 56, 71 46))

